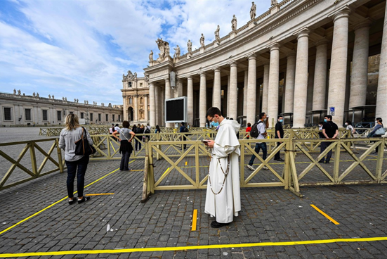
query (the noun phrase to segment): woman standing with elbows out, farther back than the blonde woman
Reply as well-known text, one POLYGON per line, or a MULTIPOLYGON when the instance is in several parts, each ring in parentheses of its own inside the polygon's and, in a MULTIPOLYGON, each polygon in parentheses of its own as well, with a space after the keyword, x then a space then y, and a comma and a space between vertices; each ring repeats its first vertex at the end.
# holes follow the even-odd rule
POLYGON ((131 141, 136 134, 129 129, 129 122, 124 121, 122 122, 122 129, 119 130, 119 132, 114 132, 113 136, 120 141, 119 145, 119 153, 122 153, 121 158, 121 164, 119 165, 119 170, 122 171, 129 171, 131 170, 129 165, 129 157, 131 156, 131 153, 133 151, 133 146, 131 145, 131 141), (119 134, 119 137, 117 137, 117 134, 119 134))

